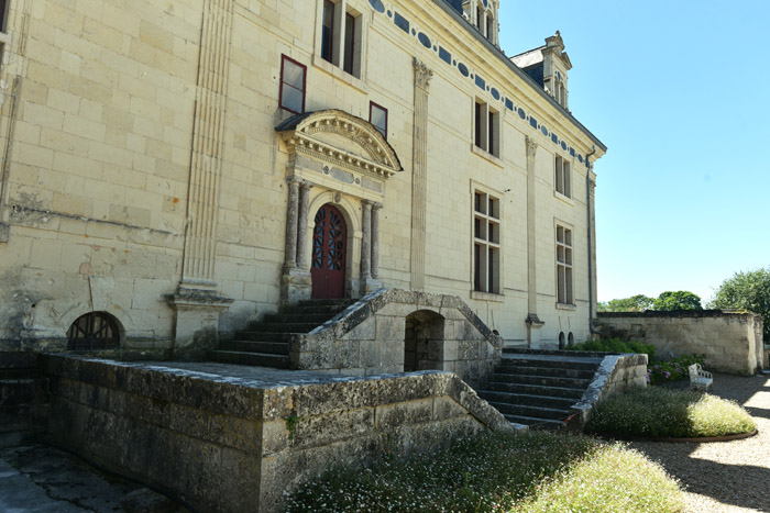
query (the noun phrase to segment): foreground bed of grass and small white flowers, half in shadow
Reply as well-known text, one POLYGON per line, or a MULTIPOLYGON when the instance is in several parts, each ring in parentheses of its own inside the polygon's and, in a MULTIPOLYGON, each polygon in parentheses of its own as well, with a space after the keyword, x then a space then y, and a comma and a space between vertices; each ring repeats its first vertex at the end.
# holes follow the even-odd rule
POLYGON ((487 433, 438 454, 334 469, 288 512, 678 512, 679 484, 619 444, 566 434, 487 433))

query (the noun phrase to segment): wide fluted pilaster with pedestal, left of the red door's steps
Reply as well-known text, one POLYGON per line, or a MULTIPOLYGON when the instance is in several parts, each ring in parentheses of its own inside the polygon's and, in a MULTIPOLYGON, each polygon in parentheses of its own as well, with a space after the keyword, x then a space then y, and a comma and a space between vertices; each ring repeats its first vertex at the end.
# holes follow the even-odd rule
POLYGON ((176 311, 175 357, 216 345, 219 314, 232 302, 215 281, 232 18, 233 0, 204 1, 182 280, 167 298, 176 311))

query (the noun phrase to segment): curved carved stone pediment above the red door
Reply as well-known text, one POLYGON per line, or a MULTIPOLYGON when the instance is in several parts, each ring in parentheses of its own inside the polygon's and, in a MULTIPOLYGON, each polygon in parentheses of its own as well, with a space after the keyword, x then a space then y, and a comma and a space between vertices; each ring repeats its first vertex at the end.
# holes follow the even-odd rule
POLYGON ((396 152, 377 129, 340 110, 298 114, 275 130, 289 153, 382 178, 404 170, 396 152))

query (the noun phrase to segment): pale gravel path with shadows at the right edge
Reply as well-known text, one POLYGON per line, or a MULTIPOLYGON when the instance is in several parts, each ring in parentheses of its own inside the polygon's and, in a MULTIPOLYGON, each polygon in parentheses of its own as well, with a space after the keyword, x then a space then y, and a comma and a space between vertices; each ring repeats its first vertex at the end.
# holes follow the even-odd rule
POLYGON ((770 376, 714 375, 711 392, 746 408, 759 433, 723 443, 630 445, 684 484, 688 512, 770 512, 770 376))

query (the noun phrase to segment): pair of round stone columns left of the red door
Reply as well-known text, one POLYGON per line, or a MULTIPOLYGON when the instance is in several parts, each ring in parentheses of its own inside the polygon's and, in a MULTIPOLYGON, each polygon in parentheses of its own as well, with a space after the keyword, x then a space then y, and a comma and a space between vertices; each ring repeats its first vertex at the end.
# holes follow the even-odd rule
POLYGON ((280 276, 282 304, 296 304, 310 299, 312 280, 307 264, 308 207, 311 183, 287 178, 286 243, 284 272, 280 276))

